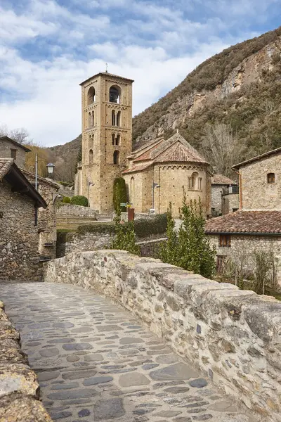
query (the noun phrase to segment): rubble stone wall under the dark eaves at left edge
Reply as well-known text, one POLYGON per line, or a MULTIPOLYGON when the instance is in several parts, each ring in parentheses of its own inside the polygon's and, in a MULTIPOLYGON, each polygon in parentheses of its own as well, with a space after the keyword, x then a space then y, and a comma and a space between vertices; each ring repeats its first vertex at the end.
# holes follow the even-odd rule
POLYGON ((0 182, 0 279, 40 280, 35 210, 31 198, 0 182))

